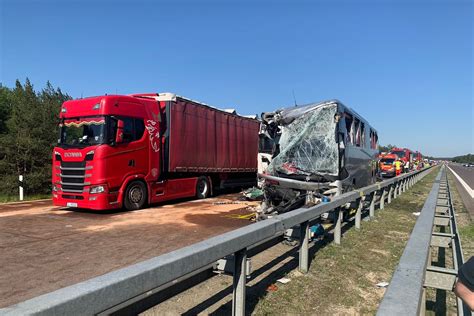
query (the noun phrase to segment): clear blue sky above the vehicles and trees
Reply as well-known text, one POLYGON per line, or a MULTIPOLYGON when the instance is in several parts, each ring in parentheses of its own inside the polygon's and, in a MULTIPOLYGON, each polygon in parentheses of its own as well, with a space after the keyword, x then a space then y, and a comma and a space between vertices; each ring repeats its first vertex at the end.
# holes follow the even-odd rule
POLYGON ((337 98, 382 144, 474 152, 471 1, 10 1, 2 85, 171 91, 242 114, 337 98))

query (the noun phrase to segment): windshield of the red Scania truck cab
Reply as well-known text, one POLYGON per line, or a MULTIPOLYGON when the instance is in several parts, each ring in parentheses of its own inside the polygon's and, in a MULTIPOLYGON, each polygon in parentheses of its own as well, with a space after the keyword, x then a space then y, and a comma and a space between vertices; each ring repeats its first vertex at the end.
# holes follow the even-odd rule
POLYGON ((86 147, 105 143, 104 116, 63 119, 60 127, 61 147, 86 147))

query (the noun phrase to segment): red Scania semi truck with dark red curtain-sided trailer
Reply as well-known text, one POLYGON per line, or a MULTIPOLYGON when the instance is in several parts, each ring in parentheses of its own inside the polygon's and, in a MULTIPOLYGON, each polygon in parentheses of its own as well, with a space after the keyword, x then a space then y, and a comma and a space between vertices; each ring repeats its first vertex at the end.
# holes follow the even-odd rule
POLYGON ((136 210, 256 184, 258 121, 173 93, 66 101, 59 130, 57 206, 136 210))

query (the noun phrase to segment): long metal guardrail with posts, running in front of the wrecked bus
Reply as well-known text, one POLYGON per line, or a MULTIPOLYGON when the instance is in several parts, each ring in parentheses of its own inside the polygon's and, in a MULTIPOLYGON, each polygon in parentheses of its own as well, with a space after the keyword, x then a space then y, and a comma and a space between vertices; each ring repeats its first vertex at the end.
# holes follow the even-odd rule
POLYGON ((80 282, 0 309, 6 315, 91 315, 109 314, 127 305, 164 291, 219 259, 234 256, 234 315, 245 314, 246 259, 249 249, 263 242, 281 238, 287 229, 300 228, 299 269, 309 268, 309 223, 326 212, 336 212, 334 241, 341 242, 342 211, 349 202, 358 203, 355 226, 360 228, 364 200, 370 200, 369 216, 375 207, 384 208, 402 192, 423 178, 430 169, 413 171, 359 190, 344 193, 328 203, 297 209, 264 221, 224 233, 158 257, 80 282))

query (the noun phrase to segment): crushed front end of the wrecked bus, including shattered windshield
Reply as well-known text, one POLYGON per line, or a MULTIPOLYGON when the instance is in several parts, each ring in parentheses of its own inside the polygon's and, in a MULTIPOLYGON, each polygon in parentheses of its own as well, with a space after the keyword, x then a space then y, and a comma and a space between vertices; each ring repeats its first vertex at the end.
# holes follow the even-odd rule
POLYGON ((312 206, 341 192, 344 134, 339 133, 338 101, 262 114, 262 129, 273 140, 273 155, 263 180, 259 219, 312 206))

